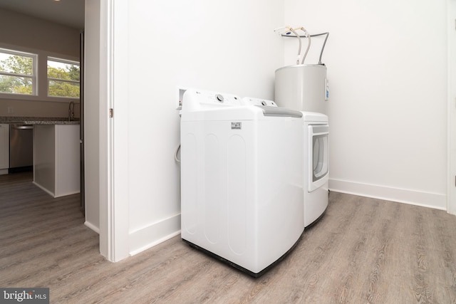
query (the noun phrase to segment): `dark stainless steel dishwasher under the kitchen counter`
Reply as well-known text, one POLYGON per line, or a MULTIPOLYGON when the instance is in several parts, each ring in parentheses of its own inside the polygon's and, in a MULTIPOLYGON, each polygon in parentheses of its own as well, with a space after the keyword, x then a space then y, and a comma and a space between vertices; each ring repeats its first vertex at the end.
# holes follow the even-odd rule
POLYGON ((33 169, 33 125, 9 125, 9 172, 33 169))

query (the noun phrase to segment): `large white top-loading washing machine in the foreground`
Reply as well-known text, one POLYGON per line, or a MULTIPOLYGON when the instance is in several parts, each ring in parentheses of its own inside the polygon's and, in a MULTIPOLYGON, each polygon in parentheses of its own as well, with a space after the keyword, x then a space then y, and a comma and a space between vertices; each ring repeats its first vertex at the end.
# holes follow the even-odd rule
POLYGON ((181 236, 257 277, 304 231, 302 113, 187 90, 181 114, 181 236))

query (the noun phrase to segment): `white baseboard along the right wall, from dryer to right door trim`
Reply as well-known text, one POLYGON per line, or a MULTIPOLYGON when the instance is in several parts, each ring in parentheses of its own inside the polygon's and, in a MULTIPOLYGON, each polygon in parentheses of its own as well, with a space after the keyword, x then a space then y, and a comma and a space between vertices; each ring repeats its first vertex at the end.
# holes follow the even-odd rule
POLYGON ((340 179, 329 179, 329 189, 333 192, 355 194, 374 199, 384 199, 404 204, 447 210, 447 196, 445 194, 348 182, 340 179))

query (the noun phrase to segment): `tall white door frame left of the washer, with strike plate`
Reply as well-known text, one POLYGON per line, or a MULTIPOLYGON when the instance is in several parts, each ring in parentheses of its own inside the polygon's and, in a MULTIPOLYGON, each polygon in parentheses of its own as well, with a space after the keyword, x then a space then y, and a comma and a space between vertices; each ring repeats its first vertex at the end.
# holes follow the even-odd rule
POLYGON ((100 0, 100 253, 112 262, 130 249, 127 41, 128 1, 100 0))

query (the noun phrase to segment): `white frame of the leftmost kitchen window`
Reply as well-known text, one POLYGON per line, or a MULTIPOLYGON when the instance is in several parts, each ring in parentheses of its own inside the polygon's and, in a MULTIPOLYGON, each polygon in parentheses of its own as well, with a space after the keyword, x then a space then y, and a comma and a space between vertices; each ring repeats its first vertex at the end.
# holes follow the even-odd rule
POLYGON ((31 94, 23 94, 23 93, 9 93, 9 92, 0 92, 0 98, 11 98, 13 96, 19 96, 20 98, 24 97, 36 97, 38 96, 38 53, 30 53, 25 51, 19 50, 11 50, 11 48, 4 48, 0 46, 0 52, 10 54, 13 56, 21 56, 21 57, 29 57, 32 58, 32 75, 25 75, 25 74, 16 74, 16 73, 9 73, 0 70, 0 75, 6 76, 13 76, 13 77, 22 77, 22 78, 30 78, 31 79, 31 94))

